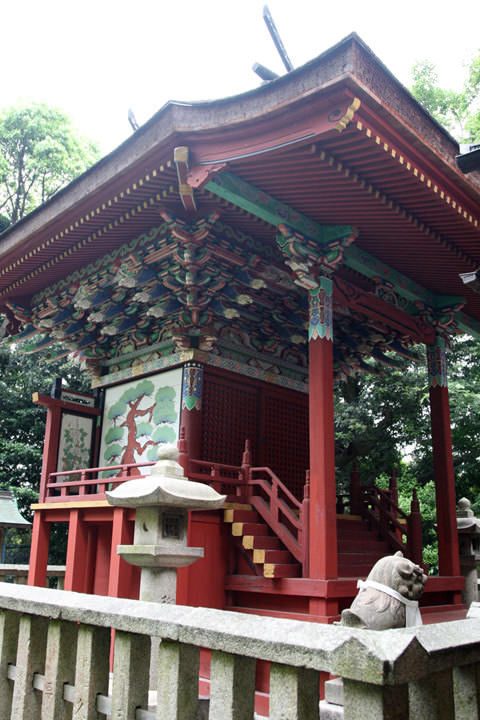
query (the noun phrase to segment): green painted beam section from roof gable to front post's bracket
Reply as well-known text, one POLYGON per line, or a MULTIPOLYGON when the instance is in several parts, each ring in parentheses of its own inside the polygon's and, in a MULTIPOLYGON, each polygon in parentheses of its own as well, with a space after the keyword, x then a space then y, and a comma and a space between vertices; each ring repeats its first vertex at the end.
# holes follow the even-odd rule
POLYGON ((233 173, 216 175, 205 189, 275 227, 285 223, 321 245, 347 237, 353 232, 351 225, 319 225, 233 173))

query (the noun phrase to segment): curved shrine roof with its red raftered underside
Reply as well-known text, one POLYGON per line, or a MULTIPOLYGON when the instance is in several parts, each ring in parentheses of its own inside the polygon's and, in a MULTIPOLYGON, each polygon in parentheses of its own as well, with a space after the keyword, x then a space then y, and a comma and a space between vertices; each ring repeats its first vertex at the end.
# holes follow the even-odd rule
MULTIPOLYGON (((338 67, 333 64, 324 69, 320 61, 313 61, 240 98, 198 108, 167 107, 119 149, 120 174, 115 174, 110 158, 113 192, 107 193, 107 183, 96 195, 98 203, 91 207, 84 195, 69 213, 58 215, 28 239, 23 253, 17 248, 11 260, 5 261, 0 268, 0 303, 2 297, 38 291, 45 285, 42 273, 51 282, 52 274, 65 276, 79 263, 91 262, 133 233, 154 226, 159 204, 178 210, 182 200, 185 209, 193 212, 197 200, 200 212, 205 212, 219 202, 216 178, 222 175, 217 173, 225 172, 227 164, 228 172, 251 186, 265 188, 274 202, 280 200, 282 212, 287 208, 289 218, 303 215, 303 231, 314 223, 314 239, 320 244, 326 241, 329 225, 336 226, 334 234, 343 232, 339 226, 357 225, 358 239, 345 251, 351 270, 370 279, 375 265, 375 272, 380 268, 389 281, 393 278, 399 294, 434 309, 458 301, 458 297, 438 297, 438 288, 447 273, 458 275, 476 263, 473 246, 478 242, 478 218, 471 199, 474 189, 459 190, 468 185, 463 178, 458 188, 452 186, 453 164, 442 173, 453 143, 418 106, 416 117, 423 125, 430 123, 432 138, 446 148, 435 162, 422 155, 422 138, 414 137, 413 129, 402 125, 397 111, 392 126, 386 122, 390 110, 373 93, 367 93, 363 81, 355 79, 361 77, 362 68, 376 61, 358 38, 346 39, 325 57, 335 62, 339 58, 338 67), (356 88, 362 104, 355 97, 356 88), (172 162, 174 139, 192 150, 192 158, 184 162, 181 171, 172 162), (155 142, 157 147, 163 143, 163 157, 168 158, 163 161, 161 180, 152 177, 152 170, 135 170, 150 167, 146 164, 148 143, 152 148, 155 142), (131 162, 127 146, 135 148, 131 162), (189 198, 192 204, 187 206, 189 198), (70 221, 62 224, 67 216, 70 221), (400 242, 406 249, 403 255, 397 249, 400 242), (418 281, 419 249, 425 286, 418 281), (429 266, 438 270, 438 278, 429 266), (3 279, 8 283, 2 287, 3 279)), ((392 77, 376 62, 379 75, 392 84, 392 77)), ((395 92, 398 96, 403 93, 402 102, 414 104, 398 90, 398 84, 395 92)), ((435 155, 430 146, 427 154, 429 158, 435 155)), ((92 177, 97 179, 99 173, 92 171, 92 177)), ((278 225, 279 219, 275 213, 268 216, 265 208, 246 205, 241 193, 224 202, 227 222, 238 221, 251 234, 273 241, 271 227, 278 225)), ((471 305, 480 320, 480 301, 476 303, 470 291, 466 294, 469 309, 471 305)), ((462 329, 472 328, 466 317, 464 325, 462 329)))

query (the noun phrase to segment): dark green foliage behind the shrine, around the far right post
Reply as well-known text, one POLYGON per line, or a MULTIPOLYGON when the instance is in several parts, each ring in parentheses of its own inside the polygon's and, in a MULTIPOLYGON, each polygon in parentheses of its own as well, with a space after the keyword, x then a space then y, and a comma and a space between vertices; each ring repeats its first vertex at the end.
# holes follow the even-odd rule
MULTIPOLYGON (((424 349, 418 362, 401 370, 359 376, 341 383, 336 397, 337 478, 349 486, 353 461, 362 482, 388 487, 392 469, 399 477, 399 504, 410 512, 413 489, 423 522, 424 560, 437 569, 436 503, 424 349)), ((480 516, 480 345, 472 338, 452 341, 447 355, 453 461, 457 501, 468 497, 480 516)))

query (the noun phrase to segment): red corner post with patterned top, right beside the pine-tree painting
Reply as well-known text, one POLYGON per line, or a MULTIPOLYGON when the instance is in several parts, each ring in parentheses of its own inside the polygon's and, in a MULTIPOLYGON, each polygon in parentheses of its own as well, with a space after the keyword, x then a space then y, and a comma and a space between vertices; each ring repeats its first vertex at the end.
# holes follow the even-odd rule
MULTIPOLYGON (((187 363, 183 368, 180 426, 184 428, 188 457, 192 460, 202 460, 202 395, 203 367, 187 363)), ((187 474, 187 469, 184 470, 187 474)))

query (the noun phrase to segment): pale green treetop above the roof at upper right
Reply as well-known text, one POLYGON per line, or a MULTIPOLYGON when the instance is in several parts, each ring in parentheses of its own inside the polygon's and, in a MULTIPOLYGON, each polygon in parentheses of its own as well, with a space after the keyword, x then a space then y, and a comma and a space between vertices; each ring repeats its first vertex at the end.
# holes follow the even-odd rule
POLYGON ((460 91, 438 85, 435 65, 429 60, 417 62, 412 70, 412 94, 455 137, 473 142, 480 137, 480 54, 475 57, 460 91))

